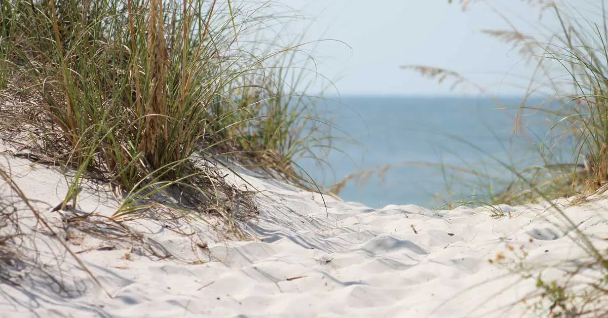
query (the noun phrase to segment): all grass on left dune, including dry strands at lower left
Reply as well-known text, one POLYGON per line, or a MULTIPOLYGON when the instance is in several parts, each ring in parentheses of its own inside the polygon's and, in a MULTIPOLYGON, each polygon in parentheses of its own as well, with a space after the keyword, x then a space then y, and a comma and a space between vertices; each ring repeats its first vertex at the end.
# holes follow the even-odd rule
MULTIPOLYGON (((69 190, 60 210, 77 207, 81 188, 91 182, 112 189, 119 201, 114 212, 69 218, 81 232, 137 244, 143 237, 131 221, 210 224, 209 217, 223 223, 213 225, 220 236, 246 240, 240 221, 256 215, 257 190, 226 179, 240 176, 233 165, 320 191, 295 162, 331 143, 329 134, 319 134, 328 123, 314 109, 317 96, 306 94, 305 74, 316 73, 308 51, 315 43, 294 38, 285 44, 269 32, 269 26, 300 19, 289 8, 270 10, 273 5, 0 2, 6 153, 61 168, 69 190)), ((4 184, 15 185, 0 172, 4 184)), ((12 190, 21 193, 16 185, 12 190)), ((29 255, 14 243, 23 237, 14 203, 0 202, 0 257, 6 261, 0 278, 18 283, 5 264, 29 255)), ((88 272, 66 241, 55 238, 88 272)))

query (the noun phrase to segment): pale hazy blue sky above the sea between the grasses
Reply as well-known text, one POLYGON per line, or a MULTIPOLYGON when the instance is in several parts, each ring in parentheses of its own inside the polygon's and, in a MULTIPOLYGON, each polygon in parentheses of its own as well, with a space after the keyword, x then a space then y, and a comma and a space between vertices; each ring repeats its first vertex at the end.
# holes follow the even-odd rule
MULTIPOLYGON (((482 29, 508 29, 496 12, 477 1, 466 12, 447 0, 278 0, 301 10, 305 40, 317 44, 320 74, 336 80, 340 94, 460 94, 401 65, 422 64, 457 71, 491 92, 522 94, 533 70, 508 44, 483 35, 482 29), (320 57, 319 57, 320 56, 320 57)), ((454 0, 454 2, 459 2, 454 0)), ((489 1, 523 32, 538 32, 538 18, 527 1, 489 1), (528 21, 528 22, 526 22, 528 21)), ((303 27, 302 27, 303 28, 303 27)), ((317 90, 320 89, 317 82, 317 90)), ((332 91, 330 91, 332 92, 332 91)), ((333 91, 335 92, 335 90, 333 91)), ((474 93, 469 90, 468 92, 474 93)))

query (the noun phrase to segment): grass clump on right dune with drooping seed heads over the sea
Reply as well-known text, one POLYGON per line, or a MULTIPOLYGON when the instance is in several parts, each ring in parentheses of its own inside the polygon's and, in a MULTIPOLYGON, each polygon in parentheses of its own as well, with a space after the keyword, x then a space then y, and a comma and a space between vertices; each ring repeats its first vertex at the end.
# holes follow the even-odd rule
MULTIPOLYGON (((468 10, 474 3, 475 1, 461 1, 463 10, 468 10)), ((494 4, 488 5, 493 7, 494 4)), ((514 84, 525 90, 525 97, 519 106, 505 106, 499 98, 488 95, 496 102, 497 108, 517 111, 514 135, 531 141, 530 152, 536 151, 538 155, 534 158, 536 164, 533 166, 512 162, 526 176, 527 182, 512 174, 511 178, 496 179, 488 175, 486 170, 475 167, 404 162, 390 167, 375 167, 349 176, 334 187, 340 188, 349 179, 359 179, 369 173, 378 172, 382 176, 389 168, 422 164, 441 170, 444 178, 451 179, 452 183, 460 182, 461 187, 480 192, 480 197, 484 197, 485 203, 489 204, 513 205, 542 201, 535 189, 541 190, 550 198, 569 198, 603 191, 603 185, 608 182, 605 80, 608 74, 608 28, 605 3, 582 1, 573 7, 567 1, 540 1, 528 2, 527 5, 530 10, 539 12, 539 21, 536 21, 539 33, 520 32, 511 21, 506 22, 513 29, 481 30, 494 40, 513 46, 523 60, 534 66, 534 73, 525 86, 522 87, 521 82, 514 84), (553 23, 544 23, 547 20, 553 23), (532 102, 542 97, 542 102, 532 102), (544 115, 554 124, 545 134, 537 136, 525 126, 525 117, 530 113, 535 113, 536 117, 544 115), (570 150, 572 153, 568 156, 569 161, 563 162, 563 154, 570 150)), ((501 12, 499 8, 493 9, 501 12)), ((508 19, 505 15, 499 15, 508 19)), ((482 95, 488 92, 487 87, 449 69, 426 65, 406 65, 401 68, 418 72, 438 83, 449 82, 452 89, 473 89, 482 95)), ((448 137, 458 139, 455 136, 448 137)), ((506 148, 505 152, 508 153, 506 148)), ((479 163, 475 165, 478 166, 479 163)), ((447 187, 449 192, 453 185, 447 187)), ((446 204, 449 205, 449 202, 446 204)))

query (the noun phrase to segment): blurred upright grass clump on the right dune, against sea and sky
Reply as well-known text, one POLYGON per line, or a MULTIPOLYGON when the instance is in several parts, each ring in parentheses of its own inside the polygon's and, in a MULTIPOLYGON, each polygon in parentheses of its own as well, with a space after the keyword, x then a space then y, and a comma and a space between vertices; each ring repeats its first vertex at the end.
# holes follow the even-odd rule
MULTIPOLYGON (((462 2, 468 9, 474 1, 462 2)), ((481 2, 481 1, 477 1, 481 2)), ((519 106, 519 116, 514 132, 520 133, 525 122, 524 111, 545 113, 555 122, 545 136, 539 136, 536 151, 542 167, 527 167, 519 173, 526 175, 534 186, 528 189, 516 187, 513 182, 503 195, 516 191, 541 192, 549 198, 585 195, 603 191, 608 171, 608 123, 606 122, 606 61, 608 61, 608 27, 604 1, 582 1, 573 7, 567 1, 538 4, 530 2, 531 10, 538 10, 545 17, 551 16, 556 26, 545 26, 539 19, 539 34, 529 35, 513 30, 482 30, 495 40, 512 44, 522 58, 535 61, 537 70, 527 85, 528 94, 545 95, 550 102, 527 106, 525 99, 519 106), (559 103, 558 108, 549 107, 559 103), (555 137, 558 136, 558 137, 555 137), (561 144, 567 138, 575 140, 571 164, 556 162, 554 149, 570 148, 561 144), (542 173, 536 173, 542 170, 542 173), (548 177, 548 178, 547 178, 548 177), (565 182, 564 179, 568 179, 565 182), (560 182, 562 181, 562 182, 560 182), (542 184, 551 183, 551 187, 542 184), (513 189, 513 190, 510 190, 513 189)), ((502 16, 506 18, 506 16, 502 16)), ((510 24, 513 26, 513 24, 510 24)), ((451 78, 455 85, 471 83, 456 72, 430 66, 407 66, 422 75, 444 81, 451 78)), ((473 85, 478 92, 485 88, 473 85)), ((500 105, 500 101, 497 100, 500 105)), ((520 178, 517 178, 520 181, 520 178)), ((517 181, 516 180, 516 181, 517 181)), ((515 181, 515 182, 516 182, 515 181)), ((533 199, 531 195, 528 199, 533 199)), ((537 198, 537 195, 536 195, 537 198)), ((514 203, 527 202, 523 198, 514 203)), ((502 200, 505 201, 505 200, 502 200)), ((508 201, 508 200, 506 200, 508 201)))

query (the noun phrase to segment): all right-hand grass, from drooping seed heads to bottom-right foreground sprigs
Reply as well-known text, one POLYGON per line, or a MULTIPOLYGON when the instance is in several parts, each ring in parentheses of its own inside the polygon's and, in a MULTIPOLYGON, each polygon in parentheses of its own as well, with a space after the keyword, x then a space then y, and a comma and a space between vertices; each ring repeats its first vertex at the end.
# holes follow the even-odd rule
MULTIPOLYGON (((452 1, 448 1, 452 2, 452 1)), ((460 166, 433 164, 429 162, 403 162, 397 165, 378 165, 366 171, 346 176, 333 185, 333 192, 339 193, 348 183, 363 186, 368 179, 377 175, 382 178, 387 171, 406 166, 434 168, 444 175, 446 189, 465 188, 477 195, 457 200, 440 198, 444 205, 440 209, 454 209, 459 206, 481 207, 488 215, 496 218, 513 217, 500 209, 499 204, 548 204, 549 209, 559 215, 562 223, 576 229, 576 224, 565 214, 563 207, 554 204, 558 198, 569 198, 570 204, 581 204, 596 198, 608 189, 608 21, 606 2, 582 1, 573 6, 568 1, 528 1, 530 10, 535 10, 545 18, 527 21, 538 26, 534 34, 522 33, 508 21, 508 16, 494 8, 489 1, 460 1, 463 10, 470 9, 476 2, 485 2, 494 9, 499 18, 506 19, 509 30, 482 30, 493 40, 513 46, 514 52, 522 56, 535 72, 523 87, 527 94, 521 106, 516 107, 518 116, 514 122, 514 134, 525 134, 527 122, 525 112, 545 114, 554 120, 543 136, 536 139, 530 153, 538 154, 537 165, 521 167, 513 162, 494 157, 468 140, 458 136, 446 136, 463 147, 478 151, 504 168, 510 178, 502 176, 497 180, 480 169, 479 165, 460 166), (544 24, 546 19, 553 24, 544 24), (546 101, 539 105, 527 105, 531 95, 544 96, 546 101), (558 107, 555 107, 558 105, 558 107), (570 143, 574 140, 573 143, 570 143), (558 160, 556 153, 564 149, 572 150, 570 162, 558 160)), ((402 69, 418 72, 423 77, 449 84, 451 88, 473 90, 486 94, 488 88, 466 75, 450 69, 427 65, 406 65, 402 69)), ((504 85, 505 83, 503 83, 504 85)), ((521 87, 521 81, 515 84, 521 87)), ((496 99, 497 108, 505 108, 496 99)), ((506 150, 506 149, 505 149, 506 150)), ((466 164, 466 163, 465 163, 466 164)), ((527 264, 527 253, 523 249, 506 246, 510 254, 497 255, 491 263, 511 266, 511 272, 524 280, 532 280, 537 292, 521 299, 534 315, 547 317, 604 317, 608 315, 608 251, 596 248, 586 233, 575 230, 575 241, 587 252, 585 260, 576 260, 552 266, 527 264), (508 265, 505 263, 509 263, 508 265), (550 268, 564 272, 564 279, 545 280, 542 273, 550 268), (592 272, 593 279, 582 279, 592 272), (585 273, 585 274, 583 274, 585 273)), ((516 304, 514 304, 516 305, 516 304)))

